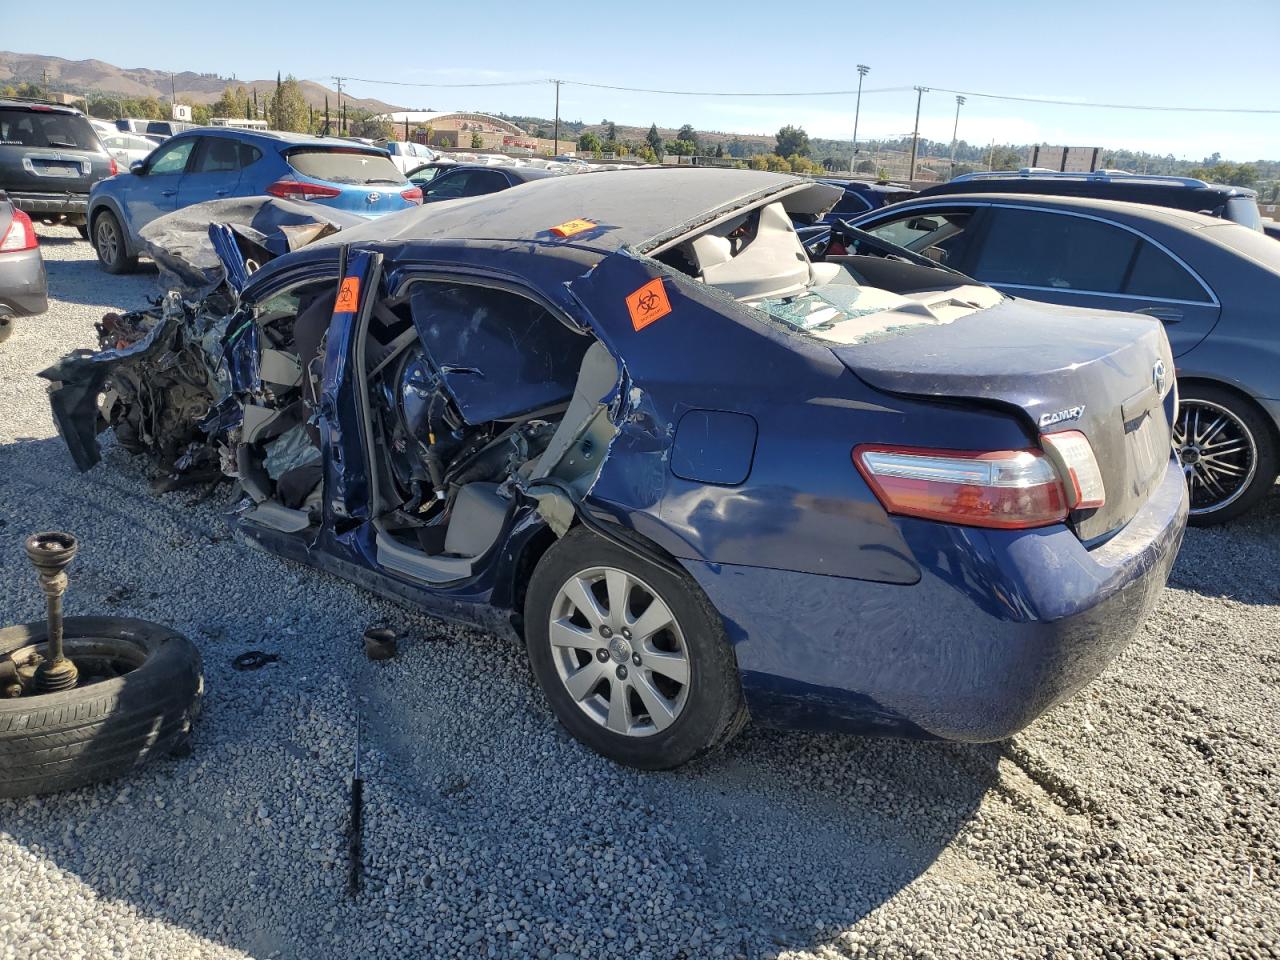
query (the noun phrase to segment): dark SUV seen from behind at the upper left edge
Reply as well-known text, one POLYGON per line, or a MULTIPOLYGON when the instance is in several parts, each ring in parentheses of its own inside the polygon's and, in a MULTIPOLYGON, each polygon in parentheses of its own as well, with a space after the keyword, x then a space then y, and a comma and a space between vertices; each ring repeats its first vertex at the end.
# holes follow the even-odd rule
POLYGON ((0 191, 33 220, 68 223, 87 237, 90 189, 116 173, 79 110, 0 97, 0 191))

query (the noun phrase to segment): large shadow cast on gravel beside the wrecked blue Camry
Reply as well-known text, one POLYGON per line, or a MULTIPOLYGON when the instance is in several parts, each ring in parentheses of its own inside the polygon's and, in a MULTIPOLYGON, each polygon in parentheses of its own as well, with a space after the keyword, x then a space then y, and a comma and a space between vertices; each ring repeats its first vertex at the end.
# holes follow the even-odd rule
MULTIPOLYGON (((111 444, 76 474, 58 438, 0 447, 0 568, 24 570, 29 530, 70 527, 68 613, 169 623, 206 677, 189 759, 0 801, 0 850, 24 851, 0 876, 14 904, 38 902, 38 864, 83 905, 78 925, 110 916, 150 938, 137 952, 758 960, 835 943, 927 870, 963 886, 980 869, 948 846, 996 783, 996 746, 749 727, 721 755, 637 773, 567 737, 516 645, 250 549, 227 536, 225 493, 154 497, 111 444), (406 636, 384 664, 358 653, 376 621, 406 636), (284 660, 237 673, 246 649, 284 660)), ((40 611, 22 575, 0 580, 0 622, 40 611)))

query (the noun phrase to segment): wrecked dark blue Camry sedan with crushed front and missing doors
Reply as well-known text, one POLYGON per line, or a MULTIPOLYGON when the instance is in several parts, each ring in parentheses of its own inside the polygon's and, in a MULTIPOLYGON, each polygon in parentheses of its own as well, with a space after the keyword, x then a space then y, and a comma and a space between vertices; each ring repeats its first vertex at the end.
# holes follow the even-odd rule
POLYGON ((82 468, 113 425, 165 484, 234 477, 268 549, 520 636, 620 763, 685 763, 748 716, 1007 737, 1165 585, 1169 343, 905 251, 812 262, 791 218, 837 197, 563 177, 252 275, 215 227, 218 296, 114 317, 45 376, 82 468))

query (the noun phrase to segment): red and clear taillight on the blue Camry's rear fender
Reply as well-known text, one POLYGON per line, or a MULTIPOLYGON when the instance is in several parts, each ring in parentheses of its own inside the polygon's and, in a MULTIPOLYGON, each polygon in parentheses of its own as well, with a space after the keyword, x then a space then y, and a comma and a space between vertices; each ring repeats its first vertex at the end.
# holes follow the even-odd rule
POLYGON ((890 513, 1023 530, 1066 520, 1069 500, 1039 451, 937 451, 861 444, 854 465, 890 513))

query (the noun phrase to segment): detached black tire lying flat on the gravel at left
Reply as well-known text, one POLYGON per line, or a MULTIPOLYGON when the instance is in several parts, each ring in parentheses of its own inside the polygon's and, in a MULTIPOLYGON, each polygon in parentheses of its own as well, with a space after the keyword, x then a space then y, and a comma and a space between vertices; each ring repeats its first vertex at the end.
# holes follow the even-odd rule
MULTIPOLYGON (((187 746, 204 692, 200 653, 189 640, 119 617, 68 617, 64 634, 73 660, 97 641, 96 649, 124 652, 138 666, 73 690, 0 699, 0 796, 109 780, 187 746)), ((5 627, 0 655, 45 639, 42 621, 5 627)))

